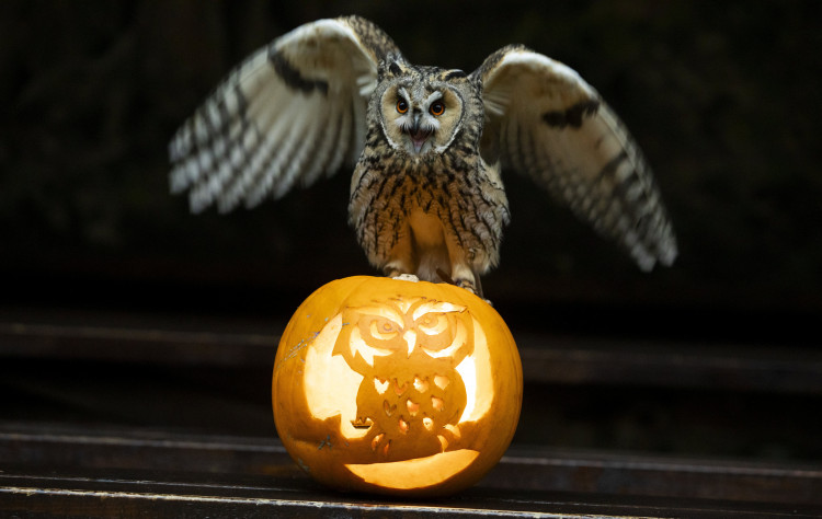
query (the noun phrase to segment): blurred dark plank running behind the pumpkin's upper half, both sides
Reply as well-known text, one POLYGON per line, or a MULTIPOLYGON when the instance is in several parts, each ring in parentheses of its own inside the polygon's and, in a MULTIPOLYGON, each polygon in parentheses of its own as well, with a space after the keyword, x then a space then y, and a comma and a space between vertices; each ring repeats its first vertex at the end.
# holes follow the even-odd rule
MULTIPOLYGON (((0 357, 259 367, 273 364, 284 324, 7 313, 0 315, 0 357)), ((822 394, 822 353, 815 349, 514 332, 526 382, 822 394)))

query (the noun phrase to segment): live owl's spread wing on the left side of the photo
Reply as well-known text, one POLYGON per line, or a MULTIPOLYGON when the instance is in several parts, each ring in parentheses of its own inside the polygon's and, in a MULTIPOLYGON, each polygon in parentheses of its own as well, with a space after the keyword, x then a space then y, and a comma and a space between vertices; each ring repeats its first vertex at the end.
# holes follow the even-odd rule
POLYGON ((365 143, 365 111, 393 42, 358 16, 297 27, 249 56, 178 130, 171 191, 229 211, 309 185, 365 143))

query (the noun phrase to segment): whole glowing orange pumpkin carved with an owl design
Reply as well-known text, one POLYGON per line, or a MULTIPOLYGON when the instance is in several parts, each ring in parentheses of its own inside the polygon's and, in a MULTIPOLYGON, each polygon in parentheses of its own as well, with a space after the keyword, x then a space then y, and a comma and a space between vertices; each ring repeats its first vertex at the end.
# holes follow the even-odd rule
POLYGON ((502 458, 522 404, 502 318, 461 288, 356 276, 315 291, 274 361, 277 434, 326 485, 404 496, 477 483, 502 458))

